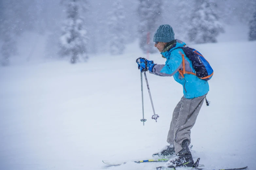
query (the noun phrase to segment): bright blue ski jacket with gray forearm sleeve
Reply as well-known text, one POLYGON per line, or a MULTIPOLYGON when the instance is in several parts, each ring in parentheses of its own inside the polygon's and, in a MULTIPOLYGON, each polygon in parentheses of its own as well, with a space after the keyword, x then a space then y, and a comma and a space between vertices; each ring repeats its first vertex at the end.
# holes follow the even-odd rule
POLYGON ((162 56, 166 58, 165 64, 152 65, 153 68, 149 68, 149 70, 151 70, 149 73, 158 76, 173 76, 175 81, 183 86, 184 97, 192 99, 209 92, 209 84, 208 81, 202 80, 192 74, 184 74, 184 78, 182 78, 178 71, 179 69, 183 70, 182 54, 185 59, 185 70, 195 73, 191 60, 188 59, 182 49, 177 49, 178 47, 184 47, 185 45, 184 42, 176 39, 176 43, 174 43, 170 49, 161 52, 162 56))

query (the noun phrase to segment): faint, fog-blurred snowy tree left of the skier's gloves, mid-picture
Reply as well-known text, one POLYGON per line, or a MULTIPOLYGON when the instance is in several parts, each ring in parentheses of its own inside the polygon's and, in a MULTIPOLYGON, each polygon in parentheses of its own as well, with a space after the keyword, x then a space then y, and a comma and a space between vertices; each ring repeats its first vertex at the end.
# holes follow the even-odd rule
POLYGON ((112 10, 108 12, 109 45, 110 53, 122 54, 125 49, 125 16, 124 6, 121 0, 112 4, 112 10))

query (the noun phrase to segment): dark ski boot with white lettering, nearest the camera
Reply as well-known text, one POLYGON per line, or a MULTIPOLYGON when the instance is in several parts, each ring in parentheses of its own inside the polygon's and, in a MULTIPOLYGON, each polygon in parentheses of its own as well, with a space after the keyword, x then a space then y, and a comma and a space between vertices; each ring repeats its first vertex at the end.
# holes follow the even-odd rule
MULTIPOLYGON (((181 144, 181 151, 177 154, 177 158, 170 159, 166 165, 168 168, 175 167, 194 167, 194 160, 188 147, 188 139, 185 139, 181 144)), ((198 160, 199 161, 199 160, 198 160)))

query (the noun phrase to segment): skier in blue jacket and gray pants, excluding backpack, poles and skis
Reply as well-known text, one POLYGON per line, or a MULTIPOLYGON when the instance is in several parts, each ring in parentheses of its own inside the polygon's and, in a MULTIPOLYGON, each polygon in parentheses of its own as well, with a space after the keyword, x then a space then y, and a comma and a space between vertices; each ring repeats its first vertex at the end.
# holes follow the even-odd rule
MULTIPOLYGON (((166 58, 165 64, 154 64, 144 58, 140 59, 138 67, 141 72, 149 70, 149 73, 157 76, 173 76, 175 81, 183 86, 183 97, 175 107, 172 115, 170 130, 167 136, 169 146, 153 156, 169 157, 176 154, 178 157, 167 162, 168 167, 187 166, 193 167, 194 161, 189 150, 191 142, 191 128, 195 125, 196 117, 203 105, 204 98, 209 91, 206 80, 195 75, 191 60, 179 47, 186 44, 174 39, 174 32, 170 25, 160 25, 154 35, 155 47, 166 58), (182 62, 184 58, 184 62, 182 62), (145 60, 145 62, 143 62, 145 60), (182 74, 183 67, 192 74, 182 74)), ((137 60, 138 60, 137 59, 137 60)))

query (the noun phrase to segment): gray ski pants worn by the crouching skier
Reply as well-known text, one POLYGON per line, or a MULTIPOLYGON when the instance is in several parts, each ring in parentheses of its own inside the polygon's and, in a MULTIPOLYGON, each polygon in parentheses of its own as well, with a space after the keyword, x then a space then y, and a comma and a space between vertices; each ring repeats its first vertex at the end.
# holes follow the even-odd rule
POLYGON ((207 94, 193 99, 182 97, 175 107, 167 136, 167 142, 174 145, 176 154, 182 149, 181 143, 183 140, 188 139, 188 145, 190 145, 190 130, 196 123, 197 115, 203 105, 206 95, 207 94))

